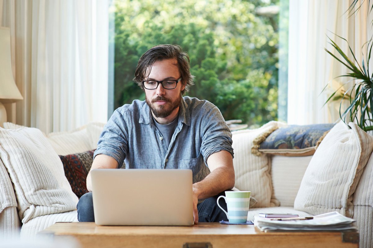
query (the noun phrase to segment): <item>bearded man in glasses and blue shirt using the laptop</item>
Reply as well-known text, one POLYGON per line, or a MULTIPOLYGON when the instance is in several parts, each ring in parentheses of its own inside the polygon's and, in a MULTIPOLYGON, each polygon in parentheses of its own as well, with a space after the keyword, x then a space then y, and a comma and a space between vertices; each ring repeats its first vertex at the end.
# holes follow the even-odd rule
MULTIPOLYGON (((194 222, 227 220, 216 199, 235 182, 232 134, 216 106, 182 97, 193 85, 188 54, 178 45, 157 45, 140 58, 134 81, 144 90, 145 101, 115 110, 91 170, 116 169, 123 161, 126 169, 191 169, 194 222)), ((91 191, 90 173, 87 189, 91 191)), ((79 221, 94 221, 91 192, 77 208, 79 221)))

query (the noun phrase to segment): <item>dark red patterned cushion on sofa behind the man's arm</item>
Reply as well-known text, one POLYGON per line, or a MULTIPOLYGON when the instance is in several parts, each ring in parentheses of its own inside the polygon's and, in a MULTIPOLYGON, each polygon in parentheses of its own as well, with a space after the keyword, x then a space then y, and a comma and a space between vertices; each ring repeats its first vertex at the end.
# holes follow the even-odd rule
POLYGON ((66 156, 60 155, 65 176, 72 191, 79 198, 88 192, 85 181, 93 163, 93 153, 94 150, 66 156))

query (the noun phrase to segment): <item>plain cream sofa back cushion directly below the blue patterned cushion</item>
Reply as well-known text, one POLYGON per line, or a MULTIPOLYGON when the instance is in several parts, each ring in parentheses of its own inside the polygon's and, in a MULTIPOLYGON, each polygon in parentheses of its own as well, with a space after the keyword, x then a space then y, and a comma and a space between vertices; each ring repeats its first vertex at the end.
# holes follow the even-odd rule
POLYGON ((312 156, 287 157, 274 155, 271 161, 273 198, 282 207, 293 207, 305 170, 312 156))

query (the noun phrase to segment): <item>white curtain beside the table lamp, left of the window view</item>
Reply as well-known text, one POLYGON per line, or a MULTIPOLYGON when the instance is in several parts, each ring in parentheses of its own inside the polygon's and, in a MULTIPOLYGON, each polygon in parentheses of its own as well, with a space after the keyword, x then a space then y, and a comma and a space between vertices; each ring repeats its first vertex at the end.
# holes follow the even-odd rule
POLYGON ((16 103, 16 123, 49 133, 106 122, 108 1, 0 4, 1 24, 11 31, 15 81, 24 98, 16 103))

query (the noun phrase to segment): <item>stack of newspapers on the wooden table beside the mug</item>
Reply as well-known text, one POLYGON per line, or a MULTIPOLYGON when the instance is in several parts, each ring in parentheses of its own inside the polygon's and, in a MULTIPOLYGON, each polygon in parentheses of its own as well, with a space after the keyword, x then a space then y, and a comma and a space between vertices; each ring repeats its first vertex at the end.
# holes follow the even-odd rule
POLYGON ((278 220, 254 216, 254 225, 264 232, 273 231, 356 231, 355 220, 345 217, 338 212, 319 214, 312 217, 291 218, 278 220), (312 218, 312 219, 311 219, 312 218))

